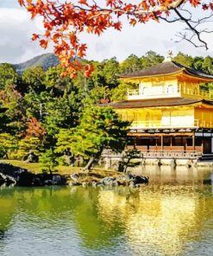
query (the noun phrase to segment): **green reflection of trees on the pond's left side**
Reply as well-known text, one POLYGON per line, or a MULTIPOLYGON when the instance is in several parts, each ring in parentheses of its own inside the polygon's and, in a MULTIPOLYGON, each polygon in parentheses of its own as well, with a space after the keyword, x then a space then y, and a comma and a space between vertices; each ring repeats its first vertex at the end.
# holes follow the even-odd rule
POLYGON ((2 211, 1 207, 0 210, 0 229, 5 230, 6 222, 3 220, 6 217, 8 226, 14 214, 22 211, 22 214, 28 215, 28 218, 24 219, 28 221, 28 224, 25 223, 28 227, 34 225, 34 220, 38 221, 37 225, 41 228, 46 223, 55 229, 61 228, 61 220, 67 228, 72 228, 74 222, 83 245, 91 249, 111 246, 113 238, 123 233, 116 222, 109 228, 108 222, 98 216, 97 189, 73 188, 72 193, 66 188, 23 188, 4 191, 10 192, 11 195, 0 197, 0 205, 3 205, 4 209, 2 211))

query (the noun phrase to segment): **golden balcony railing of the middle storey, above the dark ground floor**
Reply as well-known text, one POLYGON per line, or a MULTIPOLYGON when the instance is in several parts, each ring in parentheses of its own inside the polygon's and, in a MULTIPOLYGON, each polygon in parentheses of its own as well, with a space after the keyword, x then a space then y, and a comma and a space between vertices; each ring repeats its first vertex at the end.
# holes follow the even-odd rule
POLYGON ((194 121, 184 122, 183 124, 162 121, 133 121, 131 129, 149 129, 149 128, 199 128, 199 127, 210 127, 211 124, 204 124, 200 120, 195 119, 194 121))

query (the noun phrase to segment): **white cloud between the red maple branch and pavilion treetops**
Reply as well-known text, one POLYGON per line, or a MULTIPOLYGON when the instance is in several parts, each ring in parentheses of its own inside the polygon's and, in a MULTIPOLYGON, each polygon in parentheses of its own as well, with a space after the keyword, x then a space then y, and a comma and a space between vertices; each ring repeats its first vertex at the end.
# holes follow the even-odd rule
MULTIPOLYGON (((175 36, 181 30, 179 23, 168 24, 166 22, 148 22, 138 24, 135 28, 129 27, 124 21, 122 32, 110 29, 101 36, 82 35, 81 40, 88 44, 88 58, 103 60, 116 56, 123 61, 129 54, 141 56, 149 50, 159 54, 167 55, 169 50, 173 54, 179 51, 191 55, 207 55, 213 53, 212 40, 208 38, 210 50, 195 48, 188 42, 175 42, 175 36)), ((211 38, 213 35, 209 35, 211 38)))

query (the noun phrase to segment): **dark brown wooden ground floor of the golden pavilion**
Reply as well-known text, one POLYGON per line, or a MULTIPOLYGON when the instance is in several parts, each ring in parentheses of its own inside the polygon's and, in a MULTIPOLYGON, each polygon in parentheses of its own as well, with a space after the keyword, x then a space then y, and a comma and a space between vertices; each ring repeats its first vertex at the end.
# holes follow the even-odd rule
POLYGON ((128 150, 153 157, 213 157, 213 129, 130 131, 128 136, 128 150))

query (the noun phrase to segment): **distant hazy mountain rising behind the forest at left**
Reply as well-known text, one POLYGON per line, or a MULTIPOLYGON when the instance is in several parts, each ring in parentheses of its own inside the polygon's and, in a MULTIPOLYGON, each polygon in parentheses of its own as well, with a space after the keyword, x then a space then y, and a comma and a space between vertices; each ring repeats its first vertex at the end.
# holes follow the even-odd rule
POLYGON ((55 54, 42 54, 34 57, 29 61, 22 62, 20 64, 13 64, 18 73, 22 73, 24 70, 30 67, 43 67, 44 70, 47 70, 49 67, 54 67, 60 64, 60 61, 55 54))

